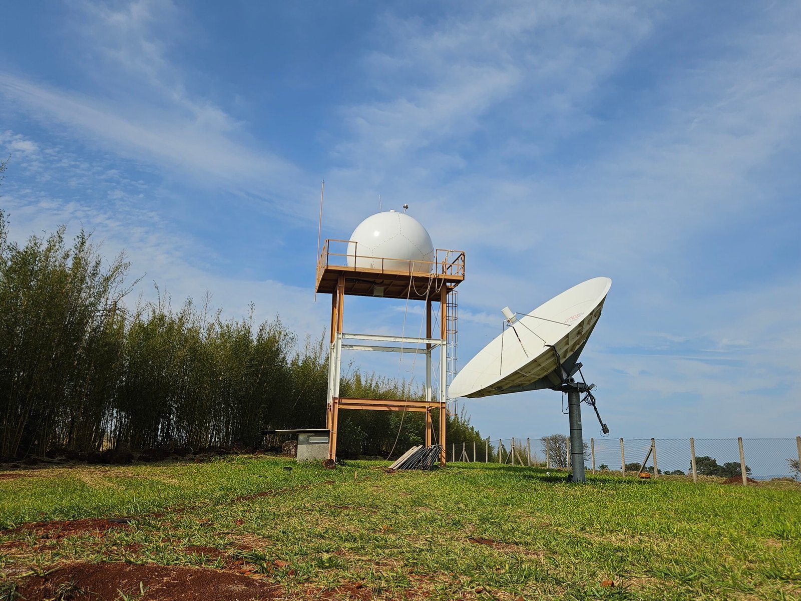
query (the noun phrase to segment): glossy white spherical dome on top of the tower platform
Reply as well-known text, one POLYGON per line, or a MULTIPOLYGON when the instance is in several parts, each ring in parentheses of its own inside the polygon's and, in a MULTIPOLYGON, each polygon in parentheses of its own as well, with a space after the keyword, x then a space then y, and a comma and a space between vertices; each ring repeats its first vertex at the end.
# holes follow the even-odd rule
MULTIPOLYGON (((433 261, 429 232, 414 217, 395 211, 369 216, 353 230, 348 244, 348 267, 409 271, 409 261, 433 261), (400 259, 400 260, 384 260, 400 259)), ((413 263, 412 270, 430 272, 431 263, 413 263)))

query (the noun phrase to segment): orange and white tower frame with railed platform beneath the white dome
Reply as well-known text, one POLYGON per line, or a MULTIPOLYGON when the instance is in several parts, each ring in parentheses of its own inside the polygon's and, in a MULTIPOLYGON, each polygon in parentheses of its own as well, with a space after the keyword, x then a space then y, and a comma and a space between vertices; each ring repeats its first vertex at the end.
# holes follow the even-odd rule
POLYGON ((328 401, 326 427, 328 459, 336 460, 336 430, 340 409, 372 409, 379 411, 425 412, 425 446, 431 446, 433 438, 432 409, 440 409, 439 436, 441 445, 440 464, 445 465, 445 396, 447 369, 446 306, 449 292, 465 279, 465 253, 437 249, 433 261, 397 260, 378 257, 362 257, 355 250, 348 255, 350 240, 325 240, 322 252, 317 257, 316 292, 331 295, 331 341, 328 353, 328 401), (345 252, 335 252, 332 246, 345 252), (371 268, 357 267, 359 259, 370 259, 371 268), (347 259, 352 259, 348 266, 347 259), (398 269, 398 266, 401 266, 398 269), (386 265, 386 268, 384 267, 386 265), (402 268, 406 265, 406 268, 402 268), (342 329, 345 296, 373 296, 425 302, 425 338, 384 336, 379 334, 344 333, 342 329), (433 337, 433 304, 440 307, 440 332, 433 337), (362 341, 360 344, 351 341, 362 341), (393 343, 381 345, 376 343, 393 343), (400 344, 400 346, 397 346, 400 344), (407 345, 407 346, 404 346, 407 345), (408 345, 413 345, 409 348, 408 345), (421 348, 425 345, 425 348, 421 348), (440 373, 438 399, 433 398, 432 356, 440 349, 440 373), (425 354, 425 401, 410 399, 374 399, 340 397, 342 350, 384 351, 390 353, 425 354))

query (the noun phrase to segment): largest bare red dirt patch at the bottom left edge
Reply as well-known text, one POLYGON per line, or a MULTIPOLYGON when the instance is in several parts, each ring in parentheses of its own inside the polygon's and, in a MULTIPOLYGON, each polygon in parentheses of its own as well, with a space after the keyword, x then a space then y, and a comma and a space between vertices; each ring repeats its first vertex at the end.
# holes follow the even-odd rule
POLYGON ((72 563, 44 576, 22 579, 19 591, 27 601, 111 601, 122 598, 120 593, 142 601, 246 601, 275 599, 284 589, 245 575, 204 568, 72 563))

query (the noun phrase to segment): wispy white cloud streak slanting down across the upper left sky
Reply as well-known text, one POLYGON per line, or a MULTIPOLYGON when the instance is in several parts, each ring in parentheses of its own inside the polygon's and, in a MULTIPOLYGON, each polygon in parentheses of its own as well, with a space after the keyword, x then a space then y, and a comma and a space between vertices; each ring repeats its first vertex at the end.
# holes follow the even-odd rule
POLYGON ((245 124, 222 107, 187 92, 164 41, 188 36, 186 14, 158 0, 119 9, 78 6, 82 18, 74 26, 87 46, 85 68, 95 91, 0 72, 0 95, 12 107, 54 128, 69 127, 73 135, 147 163, 168 179, 178 170, 198 188, 266 200, 290 216, 313 212, 308 207, 315 194, 304 185, 300 167, 270 151, 269 140, 254 142, 245 124))

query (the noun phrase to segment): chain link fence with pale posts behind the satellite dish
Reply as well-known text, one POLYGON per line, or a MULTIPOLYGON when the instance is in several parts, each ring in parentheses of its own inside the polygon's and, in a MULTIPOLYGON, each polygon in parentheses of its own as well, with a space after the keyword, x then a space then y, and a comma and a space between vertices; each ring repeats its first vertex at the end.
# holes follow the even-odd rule
MULTIPOLYGON (((570 438, 501 438, 449 442, 450 462, 492 462, 570 469, 570 438)), ((801 437, 796 438, 590 438, 584 442, 588 474, 698 479, 801 480, 801 437)))

